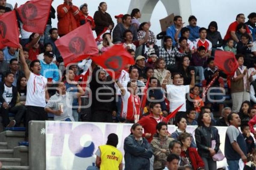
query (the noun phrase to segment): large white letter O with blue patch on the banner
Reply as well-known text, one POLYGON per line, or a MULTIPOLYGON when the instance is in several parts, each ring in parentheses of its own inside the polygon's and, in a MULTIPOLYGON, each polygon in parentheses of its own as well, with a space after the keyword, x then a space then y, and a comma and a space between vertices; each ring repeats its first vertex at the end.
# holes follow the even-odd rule
POLYGON ((79 126, 76 126, 68 139, 68 145, 70 148, 70 151, 78 157, 81 158, 88 158, 93 155, 93 151, 95 149, 95 146, 99 146, 102 144, 103 140, 103 134, 101 132, 101 129, 98 126, 95 126, 94 124, 88 123, 88 124, 81 124, 79 126), (88 131, 84 131, 84 129, 88 129, 88 131), (91 144, 88 147, 83 147, 80 145, 80 139, 83 135, 90 135, 92 137, 91 144))

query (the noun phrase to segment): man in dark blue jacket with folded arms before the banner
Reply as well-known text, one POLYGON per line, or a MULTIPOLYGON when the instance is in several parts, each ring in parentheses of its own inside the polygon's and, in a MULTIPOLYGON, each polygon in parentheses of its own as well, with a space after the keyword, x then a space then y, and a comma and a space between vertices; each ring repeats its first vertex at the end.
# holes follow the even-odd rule
POLYGON ((146 138, 142 137, 142 126, 134 123, 131 135, 124 139, 125 170, 149 170, 149 159, 153 155, 152 148, 146 138))

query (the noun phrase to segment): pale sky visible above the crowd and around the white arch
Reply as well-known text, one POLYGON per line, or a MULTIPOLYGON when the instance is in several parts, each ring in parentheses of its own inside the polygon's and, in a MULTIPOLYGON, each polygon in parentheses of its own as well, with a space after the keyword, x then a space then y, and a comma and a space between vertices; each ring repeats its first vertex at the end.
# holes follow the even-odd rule
MULTIPOLYGON (((138 0, 139 1, 139 0, 138 0)), ((8 3, 14 4, 18 2, 18 6, 25 3, 26 0, 7 0, 8 3)), ((88 4, 89 15, 93 17, 95 11, 98 10, 99 0, 73 0, 73 5, 76 5, 78 8, 83 3, 88 4)), ((108 5, 107 12, 111 15, 112 20, 116 24, 115 15, 125 14, 128 11, 130 0, 105 0, 108 5)), ((55 9, 57 6, 62 4, 62 0, 54 0, 52 5, 55 9)), ((221 33, 222 37, 226 34, 226 30, 230 23, 235 21, 236 15, 239 13, 245 14, 247 21, 247 16, 251 12, 256 12, 255 10, 256 1, 255 0, 246 0, 246 3, 241 3, 240 0, 191 0, 191 9, 192 14, 195 15, 198 19, 197 25, 200 27, 208 28, 208 25, 211 21, 216 21, 218 24, 218 31, 221 33)), ((166 17, 167 12, 164 8, 164 5, 161 1, 156 5, 152 17, 151 17, 151 28, 150 30, 157 35, 161 32, 161 27, 159 20, 166 17), (161 12, 159 12, 161 11, 161 12)), ((142 16, 143 17, 143 16, 142 16)), ((185 16, 182 16, 185 17, 185 16)), ((57 12, 56 19, 52 20, 52 26, 57 27, 57 12)), ((185 25, 188 25, 188 21, 185 25)), ((95 35, 96 36, 96 35, 95 35)), ((158 45, 160 41, 158 40, 158 45)))

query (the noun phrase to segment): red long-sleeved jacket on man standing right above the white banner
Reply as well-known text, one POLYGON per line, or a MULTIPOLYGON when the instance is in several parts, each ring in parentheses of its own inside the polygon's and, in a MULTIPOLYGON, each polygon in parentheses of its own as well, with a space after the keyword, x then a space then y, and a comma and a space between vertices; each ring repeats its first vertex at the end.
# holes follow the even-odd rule
MULTIPOLYGON (((162 117, 161 115, 160 115, 160 120, 161 122, 167 123, 166 118, 162 117)), ((153 139, 153 135, 155 135, 156 133, 156 126, 158 124, 155 118, 153 117, 153 114, 151 113, 147 116, 141 117, 138 123, 141 124, 141 126, 144 129, 143 137, 145 137, 145 133, 151 133, 150 138, 147 139, 148 142, 150 143, 153 139)))

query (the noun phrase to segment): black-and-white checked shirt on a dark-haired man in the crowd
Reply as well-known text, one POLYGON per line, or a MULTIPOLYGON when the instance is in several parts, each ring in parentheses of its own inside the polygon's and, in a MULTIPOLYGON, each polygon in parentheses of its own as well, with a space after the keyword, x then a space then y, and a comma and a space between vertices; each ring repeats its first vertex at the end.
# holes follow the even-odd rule
POLYGON ((160 47, 159 49, 159 58, 163 58, 166 65, 175 64, 175 57, 181 58, 186 55, 186 52, 180 53, 176 47, 172 47, 171 54, 169 54, 164 47, 160 47))

